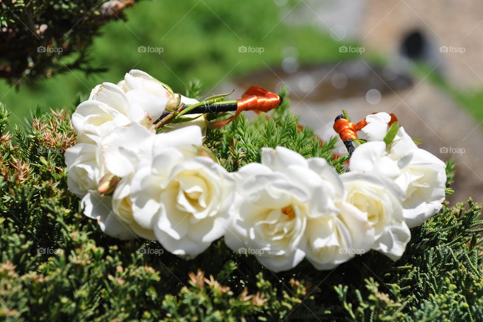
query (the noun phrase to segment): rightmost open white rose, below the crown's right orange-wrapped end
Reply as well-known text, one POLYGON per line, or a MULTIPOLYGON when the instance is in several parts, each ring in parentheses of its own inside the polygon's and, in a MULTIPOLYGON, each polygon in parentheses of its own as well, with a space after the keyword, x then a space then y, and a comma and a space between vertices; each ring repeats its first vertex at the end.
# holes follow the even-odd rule
POLYGON ((389 147, 382 141, 358 147, 351 157, 350 169, 379 173, 393 180, 405 193, 403 214, 410 228, 421 225, 442 208, 446 166, 436 156, 419 149, 403 127, 389 147))

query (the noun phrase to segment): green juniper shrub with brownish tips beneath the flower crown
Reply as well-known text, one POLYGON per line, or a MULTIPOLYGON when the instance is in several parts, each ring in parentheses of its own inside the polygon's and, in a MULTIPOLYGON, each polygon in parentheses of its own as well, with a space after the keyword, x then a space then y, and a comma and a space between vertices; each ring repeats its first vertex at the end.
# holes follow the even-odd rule
MULTIPOLYGON (((334 142, 300 130, 288 104, 209 131, 207 147, 229 170, 282 145, 343 171, 334 142)), ((75 142, 67 113, 34 117, 13 135, 7 116, 0 106, 2 320, 483 320, 483 223, 471 199, 412 229, 396 263, 369 252, 333 271, 304 261, 275 274, 222 239, 185 261, 156 241, 110 238, 82 214, 66 186, 63 151, 75 142)))

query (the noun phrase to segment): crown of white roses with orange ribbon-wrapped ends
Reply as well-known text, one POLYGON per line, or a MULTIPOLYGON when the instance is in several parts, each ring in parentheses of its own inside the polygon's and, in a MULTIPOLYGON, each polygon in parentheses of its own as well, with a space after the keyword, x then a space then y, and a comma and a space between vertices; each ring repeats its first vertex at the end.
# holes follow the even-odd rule
POLYGON ((72 114, 77 144, 65 152, 67 184, 84 214, 109 236, 157 239, 186 259, 224 236, 232 250, 279 272, 304 258, 332 269, 370 249, 396 261, 410 228, 440 211, 444 162, 387 113, 356 124, 347 113, 336 118, 352 154, 343 174, 284 147, 263 148, 260 163, 227 172, 203 148, 207 127, 281 104, 259 87, 239 100, 227 95, 199 102, 137 70, 96 86, 72 114), (235 114, 205 117, 227 111, 235 114))

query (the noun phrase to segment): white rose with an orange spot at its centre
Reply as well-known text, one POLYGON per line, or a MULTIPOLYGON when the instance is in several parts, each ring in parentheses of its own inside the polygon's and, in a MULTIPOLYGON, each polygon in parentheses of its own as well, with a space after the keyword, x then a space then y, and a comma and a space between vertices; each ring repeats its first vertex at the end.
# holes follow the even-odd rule
POLYGON ((305 257, 306 192, 263 164, 248 164, 236 176, 235 222, 225 234, 226 244, 234 251, 248 249, 274 272, 294 268, 305 257))

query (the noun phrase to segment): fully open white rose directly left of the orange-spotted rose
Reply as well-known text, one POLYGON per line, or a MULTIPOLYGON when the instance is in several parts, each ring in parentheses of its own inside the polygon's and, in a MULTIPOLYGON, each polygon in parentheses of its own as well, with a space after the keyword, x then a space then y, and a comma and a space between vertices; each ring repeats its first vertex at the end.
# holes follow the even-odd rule
POLYGON ((134 174, 133 218, 165 249, 193 258, 225 233, 233 189, 231 176, 212 159, 186 158, 172 148, 134 174))

